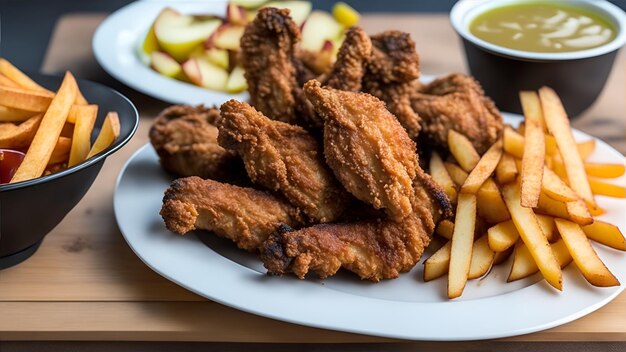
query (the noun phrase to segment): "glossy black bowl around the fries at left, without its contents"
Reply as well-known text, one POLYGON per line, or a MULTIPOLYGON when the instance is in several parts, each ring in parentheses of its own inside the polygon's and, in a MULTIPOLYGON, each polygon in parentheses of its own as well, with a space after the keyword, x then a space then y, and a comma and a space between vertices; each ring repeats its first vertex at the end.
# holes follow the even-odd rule
MULTIPOLYGON (((55 91, 63 79, 38 73, 29 76, 55 91)), ((83 198, 107 156, 126 144, 137 130, 139 116, 126 97, 89 81, 78 80, 78 86, 89 103, 99 107, 92 142, 109 111, 119 115, 120 136, 107 149, 67 170, 0 185, 0 269, 25 260, 37 250, 44 236, 83 198)))

